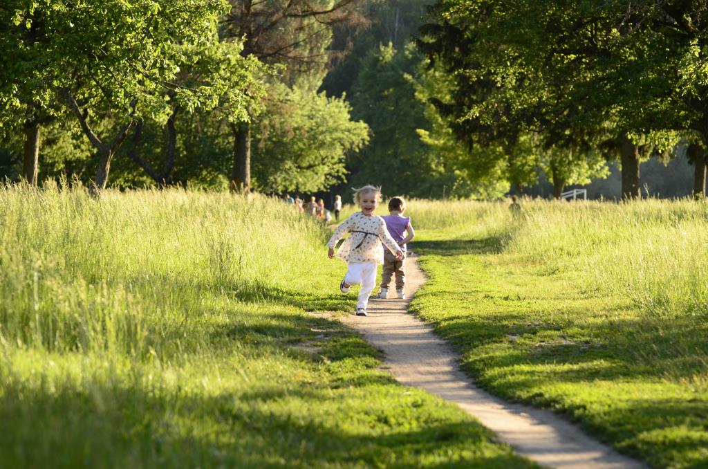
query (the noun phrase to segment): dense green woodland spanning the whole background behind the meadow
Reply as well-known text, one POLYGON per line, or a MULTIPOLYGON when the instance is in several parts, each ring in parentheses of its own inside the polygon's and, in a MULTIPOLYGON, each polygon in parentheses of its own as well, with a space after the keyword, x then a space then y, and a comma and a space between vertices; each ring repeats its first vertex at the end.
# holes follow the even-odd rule
MULTIPOLYGON (((0 58, 0 176, 81 181, 96 191, 180 185, 318 197, 364 183, 418 198, 550 197, 576 186, 592 198, 704 192, 696 132, 646 124, 658 114, 636 113, 644 121, 632 126, 617 117, 617 108, 651 108, 646 102, 610 96, 614 108, 586 100, 580 111, 539 111, 544 100, 560 106, 578 96, 566 84, 558 86, 568 86, 564 96, 539 93, 529 84, 542 83, 528 70, 535 52, 514 46, 525 41, 539 57, 552 50, 549 58, 561 50, 553 43, 561 35, 538 45, 537 31, 498 13, 497 3, 10 1, 0 7, 0 46, 8 51, 0 58), (479 59, 481 45, 495 40, 504 43, 498 50, 514 51, 504 67, 493 54, 479 59), (469 53, 461 59, 450 50, 469 53), (522 96, 513 106, 511 94, 522 96), (498 123, 493 132, 480 103, 503 110, 487 116, 498 123), (551 122, 554 113, 563 117, 551 122), (621 145, 607 149, 617 140, 634 151, 634 182, 624 179, 632 168, 621 145)), ((559 8, 519 11, 552 18, 559 8)), ((587 24, 643 25, 653 14, 611 13, 588 15, 587 24)), ((588 57, 612 53, 626 62, 622 39, 641 43, 632 35, 639 28, 612 28, 620 40, 588 57)), ((629 62, 639 74, 636 63, 649 58, 637 57, 629 62)), ((603 67, 618 79, 621 65, 603 67)), ((607 79, 577 67, 559 71, 570 84, 607 79)), ((634 86, 651 96, 641 82, 634 86)))

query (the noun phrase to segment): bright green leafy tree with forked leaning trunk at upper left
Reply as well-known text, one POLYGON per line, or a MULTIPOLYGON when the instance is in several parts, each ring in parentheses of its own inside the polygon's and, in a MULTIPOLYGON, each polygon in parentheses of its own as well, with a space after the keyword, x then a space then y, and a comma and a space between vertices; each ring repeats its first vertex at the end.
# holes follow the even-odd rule
MULTIPOLYGON (((165 124, 175 105, 185 110, 219 105, 222 81, 196 88, 175 81, 188 51, 217 43, 217 19, 226 6, 221 0, 96 0, 77 6, 16 0, 13 23, 35 24, 37 32, 30 40, 21 35, 7 40, 9 57, 20 60, 0 89, 2 107, 6 113, 28 106, 48 112, 58 97, 96 149, 93 188, 98 193, 108 181, 113 155, 138 120, 165 124), (166 90, 172 101, 165 99, 166 90), (106 119, 114 130, 102 137, 96 123, 106 119)), ((244 94, 243 88, 231 94, 230 112, 246 118, 245 100, 236 96, 244 94)))

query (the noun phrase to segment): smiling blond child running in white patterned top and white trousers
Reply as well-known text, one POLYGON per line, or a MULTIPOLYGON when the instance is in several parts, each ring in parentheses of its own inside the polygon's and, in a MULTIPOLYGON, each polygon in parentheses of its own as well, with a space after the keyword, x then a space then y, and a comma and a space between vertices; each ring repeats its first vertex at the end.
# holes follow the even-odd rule
POLYGON ((347 263, 347 273, 339 284, 339 289, 342 293, 347 293, 351 286, 361 285, 356 307, 357 316, 366 316, 369 295, 376 284, 376 266, 384 261, 381 242, 394 253, 396 259, 403 259, 403 251, 389 235, 386 223, 382 217, 374 215, 380 198, 380 188, 364 186, 354 189, 354 203, 359 205, 361 211, 344 220, 327 243, 327 255, 331 259, 339 239, 346 232, 351 232, 337 252, 337 257, 347 263))

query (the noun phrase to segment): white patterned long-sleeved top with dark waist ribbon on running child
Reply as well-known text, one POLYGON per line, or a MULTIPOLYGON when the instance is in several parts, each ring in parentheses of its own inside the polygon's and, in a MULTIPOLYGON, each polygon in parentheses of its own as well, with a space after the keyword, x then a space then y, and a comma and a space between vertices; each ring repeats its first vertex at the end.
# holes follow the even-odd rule
POLYGON ((347 233, 351 235, 344 240, 337 252, 337 257, 347 262, 375 262, 384 263, 384 252, 381 243, 392 253, 401 251, 401 248, 389 235, 386 223, 377 215, 364 215, 357 212, 348 217, 337 227, 327 243, 327 247, 334 249, 337 242, 347 233))

